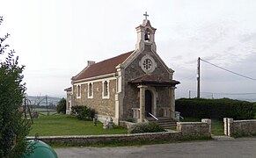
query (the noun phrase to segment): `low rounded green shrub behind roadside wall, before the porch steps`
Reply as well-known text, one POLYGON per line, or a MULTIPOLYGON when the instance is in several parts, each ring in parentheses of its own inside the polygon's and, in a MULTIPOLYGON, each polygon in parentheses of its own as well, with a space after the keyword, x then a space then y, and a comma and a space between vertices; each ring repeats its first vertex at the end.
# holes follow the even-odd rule
POLYGON ((128 133, 157 133, 165 132, 165 129, 155 122, 142 122, 136 124, 128 133))

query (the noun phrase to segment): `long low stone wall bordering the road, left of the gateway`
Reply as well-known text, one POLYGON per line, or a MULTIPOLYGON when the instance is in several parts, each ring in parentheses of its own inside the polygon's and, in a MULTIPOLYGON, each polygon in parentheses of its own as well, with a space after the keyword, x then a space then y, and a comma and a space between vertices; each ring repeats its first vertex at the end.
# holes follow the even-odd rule
MULTIPOLYGON (((113 135, 73 135, 73 136, 48 136, 39 137, 48 144, 74 144, 91 145, 107 144, 113 142, 142 142, 142 141, 162 141, 162 140, 186 140, 210 137, 210 119, 202 119, 202 122, 178 122, 177 131, 162 133, 136 133, 136 134, 113 134, 113 135)), ((134 126, 126 121, 121 122, 123 126, 134 126)), ((33 140, 33 137, 27 137, 27 140, 33 140)))

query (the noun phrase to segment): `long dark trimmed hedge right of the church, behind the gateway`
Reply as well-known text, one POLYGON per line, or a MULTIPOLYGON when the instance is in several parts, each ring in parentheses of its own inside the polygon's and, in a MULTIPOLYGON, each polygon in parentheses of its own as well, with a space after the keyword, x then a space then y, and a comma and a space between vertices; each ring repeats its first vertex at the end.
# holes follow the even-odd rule
POLYGON ((188 118, 251 119, 256 117, 256 103, 230 98, 180 98, 175 104, 176 111, 180 111, 182 117, 188 118))

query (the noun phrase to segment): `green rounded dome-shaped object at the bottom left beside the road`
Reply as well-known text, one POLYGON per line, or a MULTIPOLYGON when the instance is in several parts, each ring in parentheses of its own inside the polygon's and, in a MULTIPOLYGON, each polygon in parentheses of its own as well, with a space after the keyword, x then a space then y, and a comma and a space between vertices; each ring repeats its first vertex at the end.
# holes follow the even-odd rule
POLYGON ((34 146, 33 154, 26 155, 26 158, 58 158, 55 150, 47 143, 40 140, 29 140, 29 146, 34 146))

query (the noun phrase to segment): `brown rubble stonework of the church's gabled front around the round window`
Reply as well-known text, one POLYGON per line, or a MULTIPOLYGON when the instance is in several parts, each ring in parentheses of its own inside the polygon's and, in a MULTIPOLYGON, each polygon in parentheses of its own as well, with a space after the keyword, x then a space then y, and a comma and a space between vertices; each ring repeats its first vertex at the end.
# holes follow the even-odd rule
MULTIPOLYGON (((125 69, 125 95, 124 95, 124 117, 132 118, 132 108, 139 108, 139 89, 135 85, 128 84, 129 81, 135 79, 139 76, 144 75, 143 69, 139 65, 139 62, 142 60, 143 56, 146 54, 150 54, 150 56, 156 61, 157 68, 151 73, 151 75, 163 76, 168 78, 169 73, 162 65, 160 61, 158 61, 157 57, 151 52, 150 46, 145 46, 145 50, 143 53, 139 54, 139 56, 133 61, 128 68, 125 69), (133 98, 133 99, 131 99, 133 98)), ((170 107, 170 97, 169 90, 167 88, 156 88, 158 98, 157 98, 157 106, 160 107, 170 107)), ((157 107, 158 109, 158 107, 157 107)), ((161 111, 157 111, 157 114, 161 111)), ((160 114, 160 113, 159 113, 160 114)))

